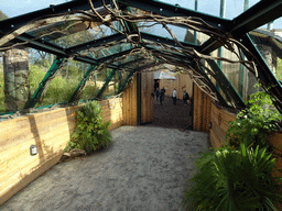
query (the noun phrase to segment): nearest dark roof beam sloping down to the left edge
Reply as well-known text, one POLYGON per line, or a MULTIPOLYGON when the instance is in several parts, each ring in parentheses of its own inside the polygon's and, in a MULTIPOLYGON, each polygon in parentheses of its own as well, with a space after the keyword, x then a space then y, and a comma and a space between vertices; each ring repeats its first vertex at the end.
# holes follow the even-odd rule
MULTIPOLYGON (((110 0, 105 0, 106 4, 110 3, 110 0)), ((95 8, 101 7, 102 1, 94 1, 93 4, 95 8)), ((9 33, 12 32, 14 29, 18 29, 33 20, 39 19, 39 16, 47 16, 47 15, 55 15, 61 14, 68 11, 75 11, 75 10, 90 10, 90 5, 87 0, 76 0, 76 1, 69 1, 66 3, 61 3, 57 5, 51 4, 50 8, 45 8, 42 10, 37 10, 34 12, 30 12, 26 14, 22 14, 19 16, 14 16, 11 19, 6 19, 3 21, 0 21, 2 33, 9 33)), ((1 35, 0 35, 1 37, 1 35)))

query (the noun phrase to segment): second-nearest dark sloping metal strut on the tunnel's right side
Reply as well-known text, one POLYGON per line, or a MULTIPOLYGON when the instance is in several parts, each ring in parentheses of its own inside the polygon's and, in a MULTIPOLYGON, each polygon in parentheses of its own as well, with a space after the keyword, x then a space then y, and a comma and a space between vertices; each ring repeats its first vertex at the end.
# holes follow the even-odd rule
MULTIPOLYGON (((219 66, 216 64, 215 60, 206 59, 208 65, 212 67, 212 69, 215 73, 216 81, 218 82, 218 86, 220 89, 225 92, 227 97, 230 97, 237 108, 246 108, 246 104, 241 97, 238 95, 234 86, 229 82, 229 80, 226 78, 219 66)), ((204 62, 203 62, 204 64, 204 62)))

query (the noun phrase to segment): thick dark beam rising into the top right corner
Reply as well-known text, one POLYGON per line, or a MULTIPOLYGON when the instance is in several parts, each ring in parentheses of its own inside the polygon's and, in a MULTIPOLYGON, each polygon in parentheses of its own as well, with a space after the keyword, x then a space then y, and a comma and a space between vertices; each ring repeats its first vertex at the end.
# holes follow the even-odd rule
POLYGON ((229 31, 234 36, 241 36, 282 16, 281 0, 261 0, 232 20, 229 31))

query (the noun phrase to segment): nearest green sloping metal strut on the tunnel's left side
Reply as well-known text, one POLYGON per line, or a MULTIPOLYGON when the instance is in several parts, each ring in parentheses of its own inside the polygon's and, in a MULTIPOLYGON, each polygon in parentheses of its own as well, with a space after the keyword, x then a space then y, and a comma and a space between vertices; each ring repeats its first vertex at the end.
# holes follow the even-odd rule
POLYGON ((24 109, 30 109, 35 107, 35 104, 39 102, 40 98, 42 97, 43 92, 46 91, 46 86, 51 82, 51 80, 55 77, 57 70, 63 65, 65 58, 56 58, 52 66, 50 67, 48 71, 46 73, 45 77, 41 81, 39 88, 32 96, 30 100, 28 100, 26 104, 24 106, 24 109))

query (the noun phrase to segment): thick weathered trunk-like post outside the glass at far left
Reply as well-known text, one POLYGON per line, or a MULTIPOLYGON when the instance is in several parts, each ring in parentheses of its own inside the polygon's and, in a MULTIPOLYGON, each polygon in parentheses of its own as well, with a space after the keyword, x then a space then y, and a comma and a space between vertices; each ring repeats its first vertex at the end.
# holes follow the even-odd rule
POLYGON ((29 52, 9 49, 3 55, 6 111, 17 111, 29 99, 29 52))

